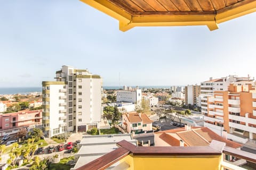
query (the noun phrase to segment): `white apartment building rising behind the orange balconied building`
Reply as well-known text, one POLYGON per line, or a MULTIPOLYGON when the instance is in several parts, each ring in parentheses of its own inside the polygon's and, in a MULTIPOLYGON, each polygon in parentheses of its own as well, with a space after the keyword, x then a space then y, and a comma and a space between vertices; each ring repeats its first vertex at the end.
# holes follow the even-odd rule
POLYGON ((237 77, 236 75, 229 75, 220 79, 212 79, 201 82, 201 108, 202 114, 207 114, 207 97, 213 95, 214 91, 227 91, 230 83, 237 85, 254 83, 250 77, 237 77))

